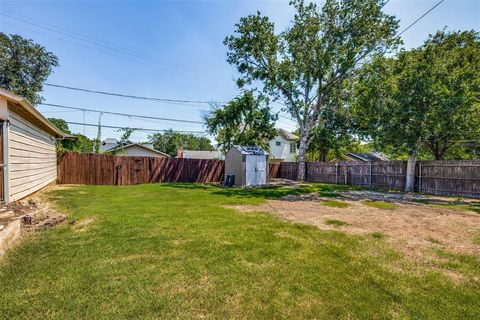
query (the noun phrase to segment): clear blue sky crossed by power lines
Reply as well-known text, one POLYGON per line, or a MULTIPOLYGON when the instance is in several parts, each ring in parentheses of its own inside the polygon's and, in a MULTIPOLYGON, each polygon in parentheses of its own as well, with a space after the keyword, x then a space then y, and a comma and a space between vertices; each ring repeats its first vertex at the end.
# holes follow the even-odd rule
MULTIPOLYGON (((384 10, 400 19, 400 29, 431 8, 435 1, 391 0, 384 10)), ((257 10, 278 30, 288 26, 288 1, 0 1, 0 30, 33 39, 55 53, 60 66, 48 82, 125 94, 183 100, 226 101, 238 92, 234 67, 226 60, 223 39, 240 17, 257 10), (55 32, 54 30, 60 31, 55 32), (75 32, 74 37, 68 31, 75 32), (67 34, 65 34, 67 33, 67 34), (79 39, 102 41, 92 44, 79 39), (112 50, 115 48, 122 49, 112 50), (108 46, 110 48, 106 48, 108 46)), ((448 30, 480 30, 480 1, 445 1, 403 35, 405 47, 420 45, 428 34, 448 30)), ((45 87, 46 102, 82 108, 158 117, 201 120, 206 104, 178 105, 123 99, 45 87)), ((47 117, 83 122, 83 112, 40 106, 47 117)), ((275 107, 278 109, 278 107, 275 107)), ((86 113, 86 123, 97 123, 86 113)), ((278 127, 293 129, 280 118, 278 127)), ((176 124, 104 115, 102 124, 203 131, 200 124, 176 124)), ((83 126, 72 125, 75 132, 83 126)), ((96 129, 87 127, 87 136, 96 129)), ((102 138, 118 137, 104 129, 102 138)), ((136 132, 134 140, 146 139, 136 132)))

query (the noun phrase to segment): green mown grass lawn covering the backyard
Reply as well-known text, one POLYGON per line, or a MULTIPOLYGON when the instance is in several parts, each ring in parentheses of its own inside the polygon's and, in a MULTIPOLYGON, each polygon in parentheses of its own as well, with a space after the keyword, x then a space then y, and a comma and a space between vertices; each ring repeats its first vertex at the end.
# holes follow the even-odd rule
POLYGON ((322 208, 340 210, 338 191, 320 184, 53 190, 46 197, 77 222, 31 234, 0 260, 0 318, 480 318, 478 256, 442 251, 427 268, 378 234, 233 208, 315 192, 332 198, 322 208))

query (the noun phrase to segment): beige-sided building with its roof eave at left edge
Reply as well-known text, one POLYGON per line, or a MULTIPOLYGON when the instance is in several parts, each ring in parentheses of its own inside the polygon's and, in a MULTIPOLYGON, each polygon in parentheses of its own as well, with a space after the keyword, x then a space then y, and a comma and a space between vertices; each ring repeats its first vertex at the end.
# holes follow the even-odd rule
POLYGON ((0 89, 0 198, 24 198, 57 179, 55 141, 68 138, 30 102, 0 89))

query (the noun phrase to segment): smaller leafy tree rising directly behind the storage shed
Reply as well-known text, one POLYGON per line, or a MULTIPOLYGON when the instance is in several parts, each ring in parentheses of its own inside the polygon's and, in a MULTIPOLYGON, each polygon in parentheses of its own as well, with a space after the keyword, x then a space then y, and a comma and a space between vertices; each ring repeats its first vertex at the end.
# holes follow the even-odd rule
POLYGON ((225 152, 234 144, 268 148, 268 141, 277 134, 276 120, 267 100, 255 97, 252 91, 214 108, 205 119, 208 132, 215 135, 218 146, 225 152))

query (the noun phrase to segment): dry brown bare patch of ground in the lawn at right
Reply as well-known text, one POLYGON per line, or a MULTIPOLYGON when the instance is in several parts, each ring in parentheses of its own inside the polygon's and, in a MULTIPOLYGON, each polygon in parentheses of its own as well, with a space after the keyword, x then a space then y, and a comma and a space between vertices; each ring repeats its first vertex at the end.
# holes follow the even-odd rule
POLYGON ((289 195, 260 205, 235 208, 247 212, 273 212, 288 221, 324 230, 384 235, 387 241, 415 260, 431 258, 431 249, 480 256, 480 244, 475 240, 480 230, 480 214, 455 207, 383 202, 369 197, 332 200, 313 195, 289 195))

